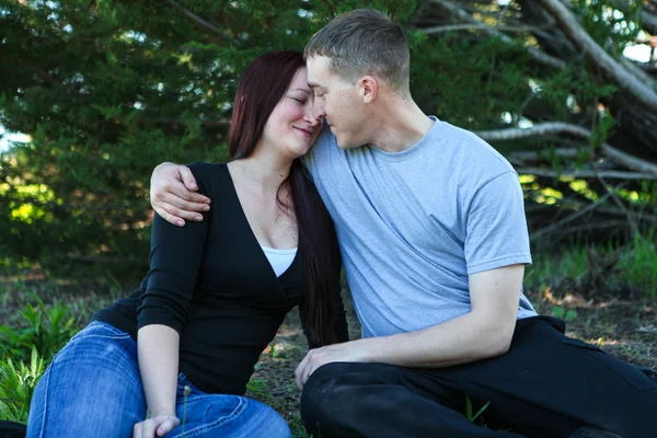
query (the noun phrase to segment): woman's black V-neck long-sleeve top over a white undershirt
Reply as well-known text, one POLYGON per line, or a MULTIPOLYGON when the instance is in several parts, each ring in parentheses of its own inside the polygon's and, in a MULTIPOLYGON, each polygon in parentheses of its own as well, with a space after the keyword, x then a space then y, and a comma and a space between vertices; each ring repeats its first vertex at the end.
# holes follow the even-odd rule
MULTIPOLYGON (((183 228, 155 215, 147 277, 132 295, 93 320, 135 339, 145 325, 168 325, 180 333, 180 371, 195 385, 207 393, 243 394, 261 353, 287 312, 304 298, 306 255, 299 250, 290 267, 276 277, 228 166, 194 163, 189 169, 198 192, 212 201, 210 211, 203 222, 187 221, 183 228)), ((339 266, 339 252, 334 253, 339 266)), ((339 293, 339 269, 335 270, 334 289, 339 293)), ((348 335, 342 309, 335 330, 344 342, 348 335)))

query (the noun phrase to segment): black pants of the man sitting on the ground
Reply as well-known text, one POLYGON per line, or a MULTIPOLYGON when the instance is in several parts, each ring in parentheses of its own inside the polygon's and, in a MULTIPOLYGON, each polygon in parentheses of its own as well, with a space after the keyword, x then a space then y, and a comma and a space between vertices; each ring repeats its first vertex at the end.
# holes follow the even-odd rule
POLYGON ((657 437, 657 383, 564 328, 521 320, 506 354, 450 368, 325 365, 306 384, 301 417, 313 438, 552 438, 583 425, 657 437), (466 397, 473 414, 491 402, 486 427, 464 415, 466 397))

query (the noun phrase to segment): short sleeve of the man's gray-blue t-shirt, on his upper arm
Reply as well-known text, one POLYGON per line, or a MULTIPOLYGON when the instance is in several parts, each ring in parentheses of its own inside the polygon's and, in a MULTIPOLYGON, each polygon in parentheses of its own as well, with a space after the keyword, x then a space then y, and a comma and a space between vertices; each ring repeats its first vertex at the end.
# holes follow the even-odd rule
POLYGON ((468 274, 531 264, 522 188, 518 174, 503 173, 474 194, 466 215, 468 274))

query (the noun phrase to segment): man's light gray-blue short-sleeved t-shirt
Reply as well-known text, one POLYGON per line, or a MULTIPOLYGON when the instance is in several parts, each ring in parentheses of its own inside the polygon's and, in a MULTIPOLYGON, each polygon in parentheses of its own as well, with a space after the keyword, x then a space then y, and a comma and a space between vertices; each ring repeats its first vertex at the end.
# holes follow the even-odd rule
MULTIPOLYGON (((474 134, 431 118, 402 152, 341 150, 324 129, 304 160, 335 222, 364 337, 465 314, 470 274, 531 263, 518 174, 474 134)), ((535 314, 521 295, 518 319, 535 314)))

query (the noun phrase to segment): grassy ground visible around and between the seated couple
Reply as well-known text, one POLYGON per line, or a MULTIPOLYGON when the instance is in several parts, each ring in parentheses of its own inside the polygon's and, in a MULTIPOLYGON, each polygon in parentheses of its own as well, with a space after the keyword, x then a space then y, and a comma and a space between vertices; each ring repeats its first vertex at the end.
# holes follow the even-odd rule
MULTIPOLYGON (((645 238, 622 250, 596 246, 539 253, 526 272, 526 295, 539 313, 566 320, 567 335, 593 343, 622 360, 657 368, 655 266, 654 239, 645 238)), ((59 344, 97 309, 129 290, 113 279, 69 281, 38 273, 0 275, 0 320, 7 325, 0 330, 0 419, 24 422, 31 391, 51 355, 61 348, 59 344), (78 318, 71 321, 72 315, 78 318)), ((358 338, 360 326, 347 291, 344 298, 350 338, 358 338)), ((298 312, 292 311, 261 355, 246 393, 278 411, 298 438, 307 435, 299 417, 300 393, 293 372, 306 351, 298 312)), ((471 403, 469 417, 481 422, 485 408, 471 403)))

